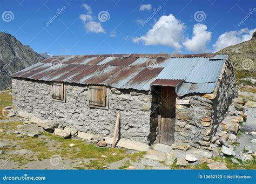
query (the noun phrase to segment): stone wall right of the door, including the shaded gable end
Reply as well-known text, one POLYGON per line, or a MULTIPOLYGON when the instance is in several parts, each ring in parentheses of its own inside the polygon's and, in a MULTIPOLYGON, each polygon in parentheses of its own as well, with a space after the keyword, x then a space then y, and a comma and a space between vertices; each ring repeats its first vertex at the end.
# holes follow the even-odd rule
POLYGON ((233 67, 227 59, 214 93, 177 98, 175 142, 185 142, 197 148, 210 146, 211 138, 236 94, 233 67), (189 103, 179 104, 184 100, 189 100, 189 103))

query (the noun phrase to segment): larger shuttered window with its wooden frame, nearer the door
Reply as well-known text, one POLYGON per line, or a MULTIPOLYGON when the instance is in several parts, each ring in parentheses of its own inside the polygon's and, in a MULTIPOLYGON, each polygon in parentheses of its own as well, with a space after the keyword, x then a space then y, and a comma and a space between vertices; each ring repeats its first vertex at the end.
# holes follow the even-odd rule
POLYGON ((97 108, 109 108, 109 91, 106 86, 89 87, 89 106, 97 108))

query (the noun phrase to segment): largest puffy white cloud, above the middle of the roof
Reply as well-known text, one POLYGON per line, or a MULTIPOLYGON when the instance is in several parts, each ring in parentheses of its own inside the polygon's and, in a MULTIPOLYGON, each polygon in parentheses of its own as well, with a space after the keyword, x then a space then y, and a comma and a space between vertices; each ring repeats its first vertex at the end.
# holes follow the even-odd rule
POLYGON ((140 41, 145 45, 165 45, 174 49, 180 49, 180 39, 185 28, 184 23, 175 18, 172 14, 160 17, 153 28, 147 31, 145 36, 133 38, 134 43, 140 41))

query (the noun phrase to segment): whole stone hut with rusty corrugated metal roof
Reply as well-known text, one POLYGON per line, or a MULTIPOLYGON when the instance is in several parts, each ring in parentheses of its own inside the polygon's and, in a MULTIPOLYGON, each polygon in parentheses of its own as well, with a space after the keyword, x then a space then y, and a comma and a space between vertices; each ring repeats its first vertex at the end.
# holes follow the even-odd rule
POLYGON ((227 55, 54 56, 12 75, 18 111, 152 145, 210 146, 236 95, 227 55))

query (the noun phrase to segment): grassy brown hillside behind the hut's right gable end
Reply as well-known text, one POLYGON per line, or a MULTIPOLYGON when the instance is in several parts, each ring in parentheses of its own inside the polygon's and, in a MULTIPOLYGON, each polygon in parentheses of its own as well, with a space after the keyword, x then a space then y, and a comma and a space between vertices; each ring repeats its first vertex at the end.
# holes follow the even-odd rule
POLYGON ((217 53, 228 54, 231 58, 238 84, 252 84, 251 80, 256 78, 256 32, 251 40, 228 46, 217 53))

